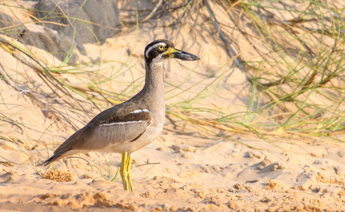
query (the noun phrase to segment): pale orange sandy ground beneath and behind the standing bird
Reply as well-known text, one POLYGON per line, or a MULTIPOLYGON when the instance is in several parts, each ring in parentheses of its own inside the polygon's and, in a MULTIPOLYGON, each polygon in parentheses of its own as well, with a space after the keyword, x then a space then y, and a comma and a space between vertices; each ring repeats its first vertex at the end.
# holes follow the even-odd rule
MULTIPOLYGON (((126 8, 126 4, 121 7, 126 8)), ((184 25, 178 36, 173 36, 176 48, 198 55, 201 60, 164 64, 167 105, 195 96, 214 77, 229 70, 229 66, 224 66, 228 63, 225 50, 206 32, 205 37, 200 37, 194 30, 198 26, 192 29, 184 25), (211 73, 212 77, 205 77, 211 73), (181 79, 188 81, 182 84, 181 79), (174 85, 180 85, 180 90, 174 89, 174 85), (181 92, 184 89, 188 91, 181 92)), ((154 39, 169 39, 167 35, 176 33, 144 23, 138 31, 128 29, 100 47, 85 44, 87 57, 80 55, 82 61, 101 58, 108 62, 100 68, 95 65, 83 70, 98 69, 98 74, 106 78, 122 66, 121 61, 126 61, 133 49, 119 76, 102 84, 103 89, 119 93, 135 81, 138 87, 126 93, 132 96, 142 87, 146 44, 154 39)), ((250 46, 247 48, 250 52, 250 46)), ((32 51, 48 64, 60 62, 43 50, 32 47, 32 51)), ((206 138, 188 124, 184 129, 176 129, 168 119, 159 139, 134 155, 135 193, 122 189, 120 177, 110 181, 120 166, 119 154, 76 154, 75 158, 53 164, 57 170, 69 173, 72 181, 42 179, 38 173, 47 173, 50 167, 40 163, 52 155, 53 147, 75 132, 68 123, 56 118, 60 116, 47 115, 47 111, 53 108, 61 112, 80 128, 99 109, 81 101, 89 112, 87 116, 65 105, 32 69, 3 49, 0 61, 23 89, 20 92, 0 80, 0 211, 345 211, 343 147, 319 141, 308 143, 298 137, 277 138, 269 144, 254 136, 231 136, 229 132, 227 135, 236 142, 215 136, 206 138), (35 95, 41 102, 32 100, 35 95), (11 120, 21 124, 12 124, 11 120)), ((83 70, 79 75, 58 77, 70 83, 88 84, 95 75, 83 74, 83 70)), ((245 111, 250 85, 239 69, 231 68, 229 73, 231 77, 224 78, 218 87, 209 88, 212 94, 196 105, 219 107, 228 114, 245 111)))

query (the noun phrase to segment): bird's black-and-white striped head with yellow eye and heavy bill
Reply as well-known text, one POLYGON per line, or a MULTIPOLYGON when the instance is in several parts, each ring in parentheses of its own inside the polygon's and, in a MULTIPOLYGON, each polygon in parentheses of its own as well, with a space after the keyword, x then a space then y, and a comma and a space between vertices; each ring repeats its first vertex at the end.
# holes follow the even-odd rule
POLYGON ((168 40, 155 40, 145 47, 145 61, 149 64, 162 63, 169 58, 180 60, 199 60, 200 58, 188 52, 175 49, 174 44, 168 40))

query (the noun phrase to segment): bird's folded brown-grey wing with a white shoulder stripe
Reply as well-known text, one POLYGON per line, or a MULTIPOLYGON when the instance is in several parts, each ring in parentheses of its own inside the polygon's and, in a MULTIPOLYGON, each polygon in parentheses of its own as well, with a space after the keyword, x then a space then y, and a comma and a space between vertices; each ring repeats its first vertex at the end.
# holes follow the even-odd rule
POLYGON ((59 146, 54 154, 72 150, 101 150, 113 144, 135 141, 151 124, 151 113, 136 104, 120 104, 104 110, 59 146))

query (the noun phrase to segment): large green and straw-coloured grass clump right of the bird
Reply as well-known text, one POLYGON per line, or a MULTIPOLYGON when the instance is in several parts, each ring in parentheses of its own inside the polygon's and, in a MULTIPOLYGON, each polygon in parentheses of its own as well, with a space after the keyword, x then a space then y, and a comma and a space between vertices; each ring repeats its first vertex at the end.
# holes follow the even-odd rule
MULTIPOLYGON (((345 14, 341 2, 204 2, 212 5, 201 14, 211 17, 208 23, 216 27, 221 46, 252 85, 247 110, 223 114, 218 108, 193 107, 200 97, 207 98, 206 91, 201 90, 174 105, 179 113, 168 114, 184 119, 198 131, 228 139, 217 129, 253 134, 267 142, 282 137, 287 141, 299 138, 341 145, 342 139, 334 136, 342 134, 345 126, 345 14), (247 27, 243 23, 248 23, 247 27), (236 39, 247 45, 236 44, 236 39)), ((196 12, 200 3, 193 2, 191 11, 196 12)))

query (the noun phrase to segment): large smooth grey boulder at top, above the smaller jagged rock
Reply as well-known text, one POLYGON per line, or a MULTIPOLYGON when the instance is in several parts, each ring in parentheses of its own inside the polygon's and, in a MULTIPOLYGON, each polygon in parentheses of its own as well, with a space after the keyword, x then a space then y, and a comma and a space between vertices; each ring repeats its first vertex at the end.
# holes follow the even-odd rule
POLYGON ((82 43, 97 42, 95 36, 102 43, 120 31, 116 1, 65 0, 57 3, 58 6, 51 0, 39 1, 33 15, 42 21, 51 22, 44 23, 44 26, 61 31, 68 38, 73 38, 76 31, 78 49, 82 43))

